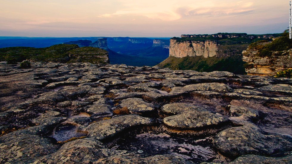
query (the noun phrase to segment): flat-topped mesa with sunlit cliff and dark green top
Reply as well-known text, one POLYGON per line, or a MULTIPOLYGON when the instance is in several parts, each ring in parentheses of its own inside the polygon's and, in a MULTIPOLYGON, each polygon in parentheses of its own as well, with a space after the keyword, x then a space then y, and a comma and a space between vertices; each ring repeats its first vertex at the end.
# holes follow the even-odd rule
POLYGON ((240 50, 254 40, 269 40, 280 34, 217 33, 181 35, 170 39, 169 56, 229 57, 241 55, 240 50))

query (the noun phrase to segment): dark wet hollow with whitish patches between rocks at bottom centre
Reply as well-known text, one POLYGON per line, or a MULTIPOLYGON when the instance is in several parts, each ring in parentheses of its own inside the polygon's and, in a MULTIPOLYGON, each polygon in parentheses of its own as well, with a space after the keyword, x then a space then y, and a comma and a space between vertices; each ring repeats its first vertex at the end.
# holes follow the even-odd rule
POLYGON ((140 157, 171 154, 196 163, 209 162, 218 157, 216 151, 208 146, 208 138, 175 138, 165 133, 143 133, 130 139, 128 137, 119 138, 116 144, 112 145, 113 148, 139 154, 140 157))

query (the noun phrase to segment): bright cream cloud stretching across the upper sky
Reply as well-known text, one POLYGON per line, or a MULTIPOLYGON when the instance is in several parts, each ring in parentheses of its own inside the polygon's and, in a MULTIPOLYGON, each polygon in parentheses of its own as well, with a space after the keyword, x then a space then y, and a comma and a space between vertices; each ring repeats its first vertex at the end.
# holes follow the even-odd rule
MULTIPOLYGON (((184 1, 184 0, 183 0, 184 1)), ((157 2, 158 3, 158 2, 157 2)), ((198 15, 240 15, 253 12, 251 8, 253 2, 233 2, 233 3, 181 3, 181 4, 162 4, 159 8, 156 5, 149 3, 141 6, 137 4, 128 4, 124 2, 125 8, 116 10, 113 13, 106 13, 97 15, 100 18, 112 18, 116 16, 143 16, 149 19, 159 19, 163 21, 178 20, 190 16, 198 15), (182 5, 184 4, 184 5, 182 5)), ((159 4, 157 4, 159 6, 159 4)))

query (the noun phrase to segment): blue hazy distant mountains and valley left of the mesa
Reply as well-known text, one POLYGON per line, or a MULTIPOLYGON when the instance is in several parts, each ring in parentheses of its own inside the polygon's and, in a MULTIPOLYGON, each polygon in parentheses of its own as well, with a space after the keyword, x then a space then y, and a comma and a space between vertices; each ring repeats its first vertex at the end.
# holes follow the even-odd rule
POLYGON ((108 51, 111 64, 154 66, 169 56, 170 38, 131 37, 0 37, 0 48, 45 48, 57 44, 76 44, 108 51), (106 39, 105 39, 106 38, 106 39), (104 40, 107 40, 104 42, 104 40))

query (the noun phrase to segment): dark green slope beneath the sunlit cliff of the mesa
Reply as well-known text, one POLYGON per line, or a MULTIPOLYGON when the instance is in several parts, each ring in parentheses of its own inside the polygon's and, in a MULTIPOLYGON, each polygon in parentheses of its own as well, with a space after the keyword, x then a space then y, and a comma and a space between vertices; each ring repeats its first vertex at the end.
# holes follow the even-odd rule
POLYGON ((172 68, 174 70, 195 70, 199 72, 228 71, 234 74, 245 74, 241 56, 231 56, 227 58, 217 58, 215 56, 204 58, 203 56, 183 58, 168 57, 160 64, 162 68, 172 68))

